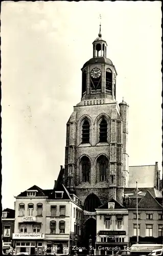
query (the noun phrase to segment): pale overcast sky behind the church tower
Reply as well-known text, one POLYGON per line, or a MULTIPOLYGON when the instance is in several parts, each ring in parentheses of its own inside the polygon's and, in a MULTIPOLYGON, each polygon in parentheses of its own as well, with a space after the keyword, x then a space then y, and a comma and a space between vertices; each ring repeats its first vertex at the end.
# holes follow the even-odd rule
MULTIPOLYGON (((64 165, 66 122, 81 99, 99 15, 117 100, 129 104, 129 165, 162 161, 161 2, 3 2, 3 208, 34 184, 50 189, 64 165)), ((147 184, 148 185, 148 184, 147 184)))

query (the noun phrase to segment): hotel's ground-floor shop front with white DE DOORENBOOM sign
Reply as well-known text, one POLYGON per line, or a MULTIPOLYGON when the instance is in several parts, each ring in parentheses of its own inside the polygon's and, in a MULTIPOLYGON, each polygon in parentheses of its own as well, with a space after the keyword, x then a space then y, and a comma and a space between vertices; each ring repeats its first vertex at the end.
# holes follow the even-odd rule
POLYGON ((30 254, 44 253, 44 234, 39 233, 14 233, 15 252, 28 252, 30 254))

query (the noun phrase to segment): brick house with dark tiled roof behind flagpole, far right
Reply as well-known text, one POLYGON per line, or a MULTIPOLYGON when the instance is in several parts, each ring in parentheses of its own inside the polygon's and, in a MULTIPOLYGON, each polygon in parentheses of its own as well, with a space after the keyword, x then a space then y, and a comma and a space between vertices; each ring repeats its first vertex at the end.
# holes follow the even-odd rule
POLYGON ((149 190, 138 192, 138 216, 136 214, 136 198, 130 195, 128 205, 130 246, 136 243, 137 232, 139 243, 162 244, 162 198, 161 195, 159 195, 159 198, 155 198, 152 194, 152 190, 151 192, 149 190))

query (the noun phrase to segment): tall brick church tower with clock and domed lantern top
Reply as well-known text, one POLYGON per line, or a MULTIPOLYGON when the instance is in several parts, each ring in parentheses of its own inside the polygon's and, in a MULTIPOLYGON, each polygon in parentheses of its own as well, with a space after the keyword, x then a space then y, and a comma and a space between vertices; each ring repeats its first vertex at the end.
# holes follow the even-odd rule
POLYGON ((93 57, 81 69, 81 101, 67 122, 64 173, 87 216, 111 199, 122 203, 128 182, 128 104, 116 101, 117 71, 101 25, 92 45, 93 57))

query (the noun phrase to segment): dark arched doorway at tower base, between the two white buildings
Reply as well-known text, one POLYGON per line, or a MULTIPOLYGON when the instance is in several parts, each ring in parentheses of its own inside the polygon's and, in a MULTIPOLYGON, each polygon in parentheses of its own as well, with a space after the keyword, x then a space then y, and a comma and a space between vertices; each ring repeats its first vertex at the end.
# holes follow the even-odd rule
POLYGON ((89 239, 91 238, 91 245, 95 248, 96 242, 96 220, 89 218, 84 224, 84 242, 85 248, 89 250, 89 239))

